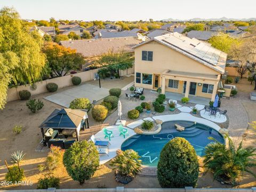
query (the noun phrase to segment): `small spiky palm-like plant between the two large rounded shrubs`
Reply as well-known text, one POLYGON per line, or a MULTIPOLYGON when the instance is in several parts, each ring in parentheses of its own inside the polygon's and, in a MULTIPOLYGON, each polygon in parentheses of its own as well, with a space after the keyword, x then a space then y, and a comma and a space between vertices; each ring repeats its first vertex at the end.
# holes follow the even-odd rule
POLYGON ((132 149, 127 149, 111 160, 110 165, 117 166, 119 174, 134 177, 140 171, 141 160, 137 152, 132 149))

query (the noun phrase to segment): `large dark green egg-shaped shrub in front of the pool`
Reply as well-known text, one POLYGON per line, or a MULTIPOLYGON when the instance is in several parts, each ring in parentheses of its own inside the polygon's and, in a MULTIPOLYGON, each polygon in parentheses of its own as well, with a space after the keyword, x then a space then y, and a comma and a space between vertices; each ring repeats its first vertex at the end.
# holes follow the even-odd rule
POLYGON ((196 151, 184 138, 174 138, 161 151, 157 179, 163 188, 195 187, 199 174, 196 151))

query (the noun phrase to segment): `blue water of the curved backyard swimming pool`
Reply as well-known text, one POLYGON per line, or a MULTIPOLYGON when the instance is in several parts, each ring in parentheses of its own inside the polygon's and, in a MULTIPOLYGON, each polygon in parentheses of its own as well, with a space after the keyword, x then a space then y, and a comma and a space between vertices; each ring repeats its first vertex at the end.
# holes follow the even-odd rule
POLYGON ((141 156, 143 165, 157 166, 162 148, 175 137, 182 137, 188 140, 199 156, 203 156, 205 154, 205 146, 213 142, 208 137, 213 137, 221 143, 225 142, 222 135, 209 126, 188 121, 169 121, 164 122, 162 130, 155 135, 133 135, 123 142, 121 149, 133 149, 141 156), (174 124, 186 127, 185 131, 177 131, 174 124))

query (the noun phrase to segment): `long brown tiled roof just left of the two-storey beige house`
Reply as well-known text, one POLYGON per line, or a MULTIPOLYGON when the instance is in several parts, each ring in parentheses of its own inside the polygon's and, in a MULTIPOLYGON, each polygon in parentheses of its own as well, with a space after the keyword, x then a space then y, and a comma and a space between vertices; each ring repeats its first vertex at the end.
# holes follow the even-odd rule
POLYGON ((84 57, 95 57, 107 53, 109 50, 118 52, 133 52, 132 47, 142 41, 134 37, 83 39, 74 41, 61 41, 60 44, 71 49, 76 49, 84 57))

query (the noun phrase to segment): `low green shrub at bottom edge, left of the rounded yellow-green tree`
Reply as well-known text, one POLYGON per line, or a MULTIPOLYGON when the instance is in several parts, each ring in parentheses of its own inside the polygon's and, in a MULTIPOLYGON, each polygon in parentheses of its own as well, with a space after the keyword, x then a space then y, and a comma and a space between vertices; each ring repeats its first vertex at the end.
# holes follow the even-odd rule
POLYGON ((57 177, 49 176, 44 179, 39 179, 37 189, 60 188, 60 179, 57 177))

